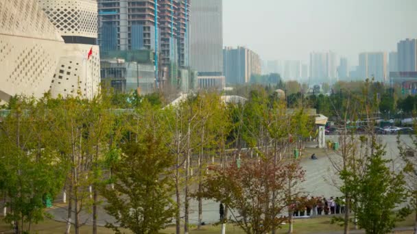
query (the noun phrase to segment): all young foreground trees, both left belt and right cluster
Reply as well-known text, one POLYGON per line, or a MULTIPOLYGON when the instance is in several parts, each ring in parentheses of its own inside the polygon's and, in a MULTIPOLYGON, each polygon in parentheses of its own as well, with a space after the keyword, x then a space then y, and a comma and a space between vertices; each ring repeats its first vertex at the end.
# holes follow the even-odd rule
MULTIPOLYGON (((347 92, 335 110, 339 118, 372 117, 379 101, 369 89, 366 83, 361 94, 347 92)), ((62 190, 66 233, 80 233, 88 221, 80 215, 90 212, 97 233, 99 206, 117 220, 106 225, 115 232, 156 233, 175 222, 176 233, 189 233, 191 199, 198 200, 199 229, 202 200, 211 199, 226 207, 223 224, 276 233, 287 221, 291 233, 291 209, 302 203, 305 180, 294 148, 315 132, 308 103, 287 109, 259 87, 246 103, 226 104, 215 92, 163 102, 158 94, 12 99, 0 123, 0 192, 15 233, 49 217, 43 200, 62 190)), ((345 233, 351 222, 387 233, 409 208, 416 211, 416 154, 405 157, 411 146, 399 143, 405 170, 393 171, 373 125, 361 138, 342 129, 340 157, 329 157, 346 198, 346 215, 335 221, 345 233), (408 209, 395 211, 404 201, 408 209)))

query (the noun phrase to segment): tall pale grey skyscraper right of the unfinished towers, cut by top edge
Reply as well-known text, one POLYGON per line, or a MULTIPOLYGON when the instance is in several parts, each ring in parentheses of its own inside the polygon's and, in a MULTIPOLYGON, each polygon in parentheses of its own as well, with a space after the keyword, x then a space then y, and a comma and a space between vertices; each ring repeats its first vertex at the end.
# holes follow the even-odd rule
POLYGON ((190 66, 198 72, 200 87, 223 88, 225 84, 222 12, 222 0, 193 0, 191 4, 190 66))

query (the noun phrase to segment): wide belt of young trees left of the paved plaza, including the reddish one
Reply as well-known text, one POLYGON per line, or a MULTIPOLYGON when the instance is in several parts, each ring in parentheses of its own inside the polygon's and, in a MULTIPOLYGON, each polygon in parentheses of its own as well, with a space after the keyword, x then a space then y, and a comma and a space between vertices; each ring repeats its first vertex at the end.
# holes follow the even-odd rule
POLYGON ((226 104, 219 94, 204 92, 165 106, 155 94, 103 93, 91 101, 49 95, 38 100, 12 99, 0 123, 5 220, 15 233, 29 233, 33 223, 50 217, 45 198, 57 198, 63 190, 68 203, 66 233, 72 227, 80 233, 88 221, 80 218, 82 213, 91 213, 93 233, 97 233, 99 206, 115 217, 117 222, 106 226, 116 232, 126 228, 156 233, 175 222, 176 233, 181 229, 189 233, 190 200, 198 200, 198 223, 202 224, 205 198, 240 211, 233 220, 250 222, 245 225, 251 230, 252 218, 258 217, 263 231, 245 229, 249 233, 275 230, 281 225, 276 216, 289 198, 296 199, 298 192, 290 190, 303 174, 296 161, 283 159, 301 145, 296 142, 308 137, 312 122, 302 108, 289 114, 285 103, 265 90, 253 90, 250 95, 246 103, 226 104), (252 160, 243 159, 248 152, 252 160), (224 200, 228 194, 216 197, 208 190, 217 172, 237 172, 238 161, 241 169, 236 176, 246 171, 246 178, 240 179, 259 181, 253 189, 264 199, 257 200, 259 205, 270 209, 268 225, 261 221, 259 209, 246 212, 252 207, 246 200, 254 191, 245 187, 250 181, 241 184, 237 178, 228 178, 243 189, 235 187, 233 192, 240 194, 233 196, 233 203, 224 200), (259 165, 265 170, 259 170, 259 165), (263 176, 254 177, 256 170, 263 176), (290 181, 278 179, 287 178, 286 174, 291 174, 290 181), (265 178, 269 183, 264 183, 265 178))

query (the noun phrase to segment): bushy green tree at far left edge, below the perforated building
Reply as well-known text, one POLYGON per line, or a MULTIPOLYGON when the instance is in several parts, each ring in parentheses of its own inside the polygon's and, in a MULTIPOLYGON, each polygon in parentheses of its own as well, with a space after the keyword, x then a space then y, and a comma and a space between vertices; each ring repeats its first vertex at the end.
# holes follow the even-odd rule
POLYGON ((64 183, 66 164, 49 144, 47 100, 16 97, 0 123, 0 192, 10 209, 5 221, 14 223, 16 234, 49 217, 45 198, 55 198, 64 183))

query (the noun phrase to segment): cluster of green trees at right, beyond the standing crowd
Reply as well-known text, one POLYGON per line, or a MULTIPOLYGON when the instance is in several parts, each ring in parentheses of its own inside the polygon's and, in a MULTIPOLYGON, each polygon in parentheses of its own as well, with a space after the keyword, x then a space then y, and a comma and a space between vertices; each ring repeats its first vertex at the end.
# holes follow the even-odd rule
MULTIPOLYGON (((360 94, 346 92, 346 99, 336 112, 343 120, 339 133, 341 148, 339 157, 329 159, 346 207, 344 218, 336 217, 333 221, 342 222, 344 233, 349 233, 351 223, 366 233, 390 233, 398 221, 417 212, 415 134, 410 135, 412 144, 398 135, 398 155, 387 155, 386 146, 374 133, 374 122, 367 122, 363 135, 348 128, 348 120, 377 116, 381 100, 372 92, 372 86, 367 80, 360 94)), ((417 233, 417 217, 415 223, 417 233)))

